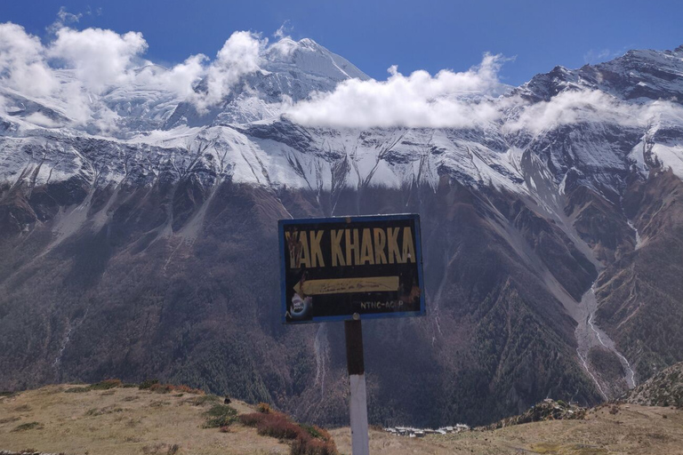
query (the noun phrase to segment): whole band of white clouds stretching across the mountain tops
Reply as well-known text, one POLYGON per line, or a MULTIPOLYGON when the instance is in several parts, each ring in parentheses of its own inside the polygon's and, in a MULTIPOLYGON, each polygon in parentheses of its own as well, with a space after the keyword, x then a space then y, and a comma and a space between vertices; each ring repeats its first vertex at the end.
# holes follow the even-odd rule
MULTIPOLYGON (((60 28, 46 44, 19 25, 0 24, 0 85, 47 100, 75 124, 87 124, 100 132, 114 130, 120 120, 100 102, 111 89, 123 88, 119 91, 123 93, 167 91, 172 100, 189 100, 204 112, 224 100, 244 76, 259 71, 261 60, 287 55, 297 45, 284 37, 285 25, 276 32, 283 37, 275 44, 240 31, 229 36, 213 60, 197 54, 166 69, 144 59, 148 44, 140 33, 76 30, 64 25, 78 17, 60 11, 56 22, 60 28), (202 84, 197 84, 200 80, 202 84)), ((584 121, 639 127, 653 122, 683 123, 683 108, 675 103, 636 104, 599 91, 561 92, 535 104, 518 97, 499 97, 507 90, 498 79, 502 61, 500 56, 486 54, 468 71, 442 70, 435 76, 426 71, 406 76, 394 66, 385 81, 350 79, 333 92, 315 92, 296 104, 283 96, 281 104, 270 108, 284 111, 284 116, 299 124, 350 128, 468 128, 500 121, 505 131, 535 133, 584 121)), ((160 98, 167 100, 168 94, 160 98)), ((26 119, 53 125, 44 116, 26 119)))

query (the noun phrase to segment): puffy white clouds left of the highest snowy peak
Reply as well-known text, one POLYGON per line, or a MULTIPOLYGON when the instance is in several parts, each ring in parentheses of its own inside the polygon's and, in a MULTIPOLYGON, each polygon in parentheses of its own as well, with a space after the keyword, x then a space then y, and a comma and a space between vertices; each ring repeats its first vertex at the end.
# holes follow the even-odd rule
MULTIPOLYGON (((49 28, 52 41, 47 44, 19 25, 0 24, 0 84, 23 95, 50 99, 76 124, 91 124, 101 131, 111 130, 117 121, 114 112, 96 102, 104 92, 145 86, 172 92, 205 110, 224 99, 242 76, 259 69, 261 52, 268 44, 253 33, 236 32, 213 61, 198 54, 165 69, 144 60, 148 44, 141 33, 65 26, 80 17, 61 9, 49 28), (62 69, 66 73, 58 71, 62 69), (203 78, 205 91, 196 92, 194 87, 203 78)), ((31 118, 46 125, 38 117, 31 118)))

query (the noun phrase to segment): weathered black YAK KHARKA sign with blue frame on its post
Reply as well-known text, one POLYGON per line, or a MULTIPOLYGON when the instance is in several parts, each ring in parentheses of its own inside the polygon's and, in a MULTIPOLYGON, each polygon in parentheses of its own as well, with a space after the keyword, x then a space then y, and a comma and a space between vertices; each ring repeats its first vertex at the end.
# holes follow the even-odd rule
POLYGON ((280 220, 283 323, 344 321, 353 455, 369 453, 362 319, 425 314, 418 215, 280 220))

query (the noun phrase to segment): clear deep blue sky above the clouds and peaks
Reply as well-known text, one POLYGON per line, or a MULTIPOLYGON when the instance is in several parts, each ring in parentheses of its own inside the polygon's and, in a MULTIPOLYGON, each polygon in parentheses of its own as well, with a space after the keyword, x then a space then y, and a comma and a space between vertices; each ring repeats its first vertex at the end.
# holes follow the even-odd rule
POLYGON ((676 1, 2 0, 0 22, 45 36, 60 6, 84 14, 76 28, 142 32, 147 58, 165 64, 213 56, 233 31, 270 36, 286 23, 293 38, 310 37, 378 79, 390 65, 404 74, 461 71, 493 52, 515 57, 500 77, 521 84, 555 65, 683 44, 683 2, 676 1))

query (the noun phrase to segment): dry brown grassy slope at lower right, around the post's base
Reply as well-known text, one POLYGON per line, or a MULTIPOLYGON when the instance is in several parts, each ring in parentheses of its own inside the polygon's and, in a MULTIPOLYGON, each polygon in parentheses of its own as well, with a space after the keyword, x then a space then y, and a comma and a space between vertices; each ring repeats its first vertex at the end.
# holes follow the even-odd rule
MULTIPOLYGON (((637 405, 618 405, 591 410, 585 420, 534 422, 494 431, 471 431, 458 435, 424 438, 394 436, 371 431, 374 455, 681 455, 683 410, 637 405), (666 416, 667 419, 663 419, 666 416)), ((348 428, 332 431, 337 447, 350 453, 348 428)))

